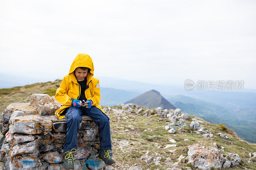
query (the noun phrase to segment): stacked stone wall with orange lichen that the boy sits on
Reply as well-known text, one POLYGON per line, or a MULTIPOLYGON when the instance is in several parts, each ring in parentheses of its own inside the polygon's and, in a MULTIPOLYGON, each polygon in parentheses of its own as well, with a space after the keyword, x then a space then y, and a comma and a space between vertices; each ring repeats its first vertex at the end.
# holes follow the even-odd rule
MULTIPOLYGON (((0 150, 4 170, 62 169, 67 124, 54 115, 58 108, 53 97, 33 94, 30 103, 12 103, 4 110, 0 126, 5 135, 0 150)), ((98 125, 88 116, 80 123, 77 143, 75 169, 111 169, 97 158, 98 125)))

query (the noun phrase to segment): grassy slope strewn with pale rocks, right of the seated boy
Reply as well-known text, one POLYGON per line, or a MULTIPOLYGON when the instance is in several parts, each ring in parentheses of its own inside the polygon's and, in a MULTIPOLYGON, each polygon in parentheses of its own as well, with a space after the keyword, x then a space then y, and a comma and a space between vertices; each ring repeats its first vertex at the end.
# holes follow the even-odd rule
MULTIPOLYGON (((121 109, 121 106, 111 107, 113 109, 121 109)), ((143 108, 146 110, 148 108, 143 108)), ((218 148, 220 146, 225 147, 223 154, 227 152, 237 153, 242 162, 240 165, 227 169, 256 169, 256 159, 253 159, 253 163, 248 163, 246 159, 249 158, 249 153, 256 151, 255 144, 248 144, 247 142, 241 140, 236 136, 236 133, 231 129, 222 130, 221 126, 206 122, 203 119, 205 128, 209 129, 214 135, 212 140, 206 139, 195 133, 195 130, 187 127, 177 130, 176 134, 170 134, 167 130, 163 129, 164 126, 170 121, 167 118, 160 118, 160 116, 149 115, 143 116, 140 114, 132 113, 118 113, 116 111, 108 111, 107 114, 111 119, 110 127, 114 129, 112 140, 113 140, 113 151, 114 159, 118 166, 114 166, 114 170, 117 169, 129 169, 129 167, 134 165, 140 165, 142 169, 155 170, 166 169, 177 159, 180 155, 188 156, 187 146, 191 144, 201 144, 203 146, 213 146, 213 142, 217 143, 218 148), (217 133, 228 134, 230 139, 225 140, 219 136, 217 133), (167 144, 173 144, 169 142, 168 138, 171 137, 176 141, 176 147, 164 148, 167 144), (184 141, 184 139, 188 139, 184 141), (169 150, 176 151, 174 153, 169 152, 169 150), (156 153, 160 154, 162 159, 160 160, 160 165, 155 165, 154 161, 146 163, 140 160, 142 155, 149 152, 149 156, 156 158, 156 153), (171 162, 166 160, 171 158, 171 162)), ((153 111, 154 114, 154 111, 153 111)), ((189 115, 189 120, 183 123, 190 124, 195 116, 189 115)), ((186 164, 187 160, 183 160, 179 165, 185 169, 185 166, 193 166, 186 164)), ((214 168, 213 168, 214 169, 214 168)))

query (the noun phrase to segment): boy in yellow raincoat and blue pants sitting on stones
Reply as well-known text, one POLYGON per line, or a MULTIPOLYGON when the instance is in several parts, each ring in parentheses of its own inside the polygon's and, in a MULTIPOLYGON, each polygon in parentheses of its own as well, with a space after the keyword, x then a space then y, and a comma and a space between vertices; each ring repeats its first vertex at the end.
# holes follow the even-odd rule
POLYGON ((99 106, 100 83, 93 76, 93 63, 89 55, 78 54, 56 91, 55 99, 62 106, 55 112, 59 119, 65 118, 67 123, 66 142, 64 144, 64 169, 74 169, 74 153, 77 149, 77 130, 82 115, 90 116, 99 126, 100 154, 98 158, 106 165, 116 165, 111 159, 109 118, 99 106), (83 101, 82 103, 80 101, 83 101))

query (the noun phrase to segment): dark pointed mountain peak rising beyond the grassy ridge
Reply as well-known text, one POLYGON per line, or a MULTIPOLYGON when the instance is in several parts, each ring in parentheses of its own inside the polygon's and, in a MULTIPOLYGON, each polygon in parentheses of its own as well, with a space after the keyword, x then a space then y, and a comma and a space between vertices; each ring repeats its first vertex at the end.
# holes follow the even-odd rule
POLYGON ((176 109, 169 101, 161 96, 160 92, 156 90, 149 90, 139 96, 126 101, 124 104, 133 103, 141 107, 156 108, 162 107, 163 109, 176 109))

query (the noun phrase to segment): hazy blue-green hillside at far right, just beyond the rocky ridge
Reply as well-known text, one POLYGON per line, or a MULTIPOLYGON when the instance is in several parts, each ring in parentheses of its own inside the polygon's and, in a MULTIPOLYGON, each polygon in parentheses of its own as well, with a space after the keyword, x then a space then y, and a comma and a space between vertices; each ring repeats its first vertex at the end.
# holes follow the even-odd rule
POLYGON ((169 101, 174 103, 175 107, 181 108, 191 115, 196 115, 211 123, 223 123, 236 131, 239 137, 248 142, 256 143, 256 115, 253 114, 253 110, 234 113, 230 109, 211 102, 196 100, 183 95, 174 96, 169 101))

